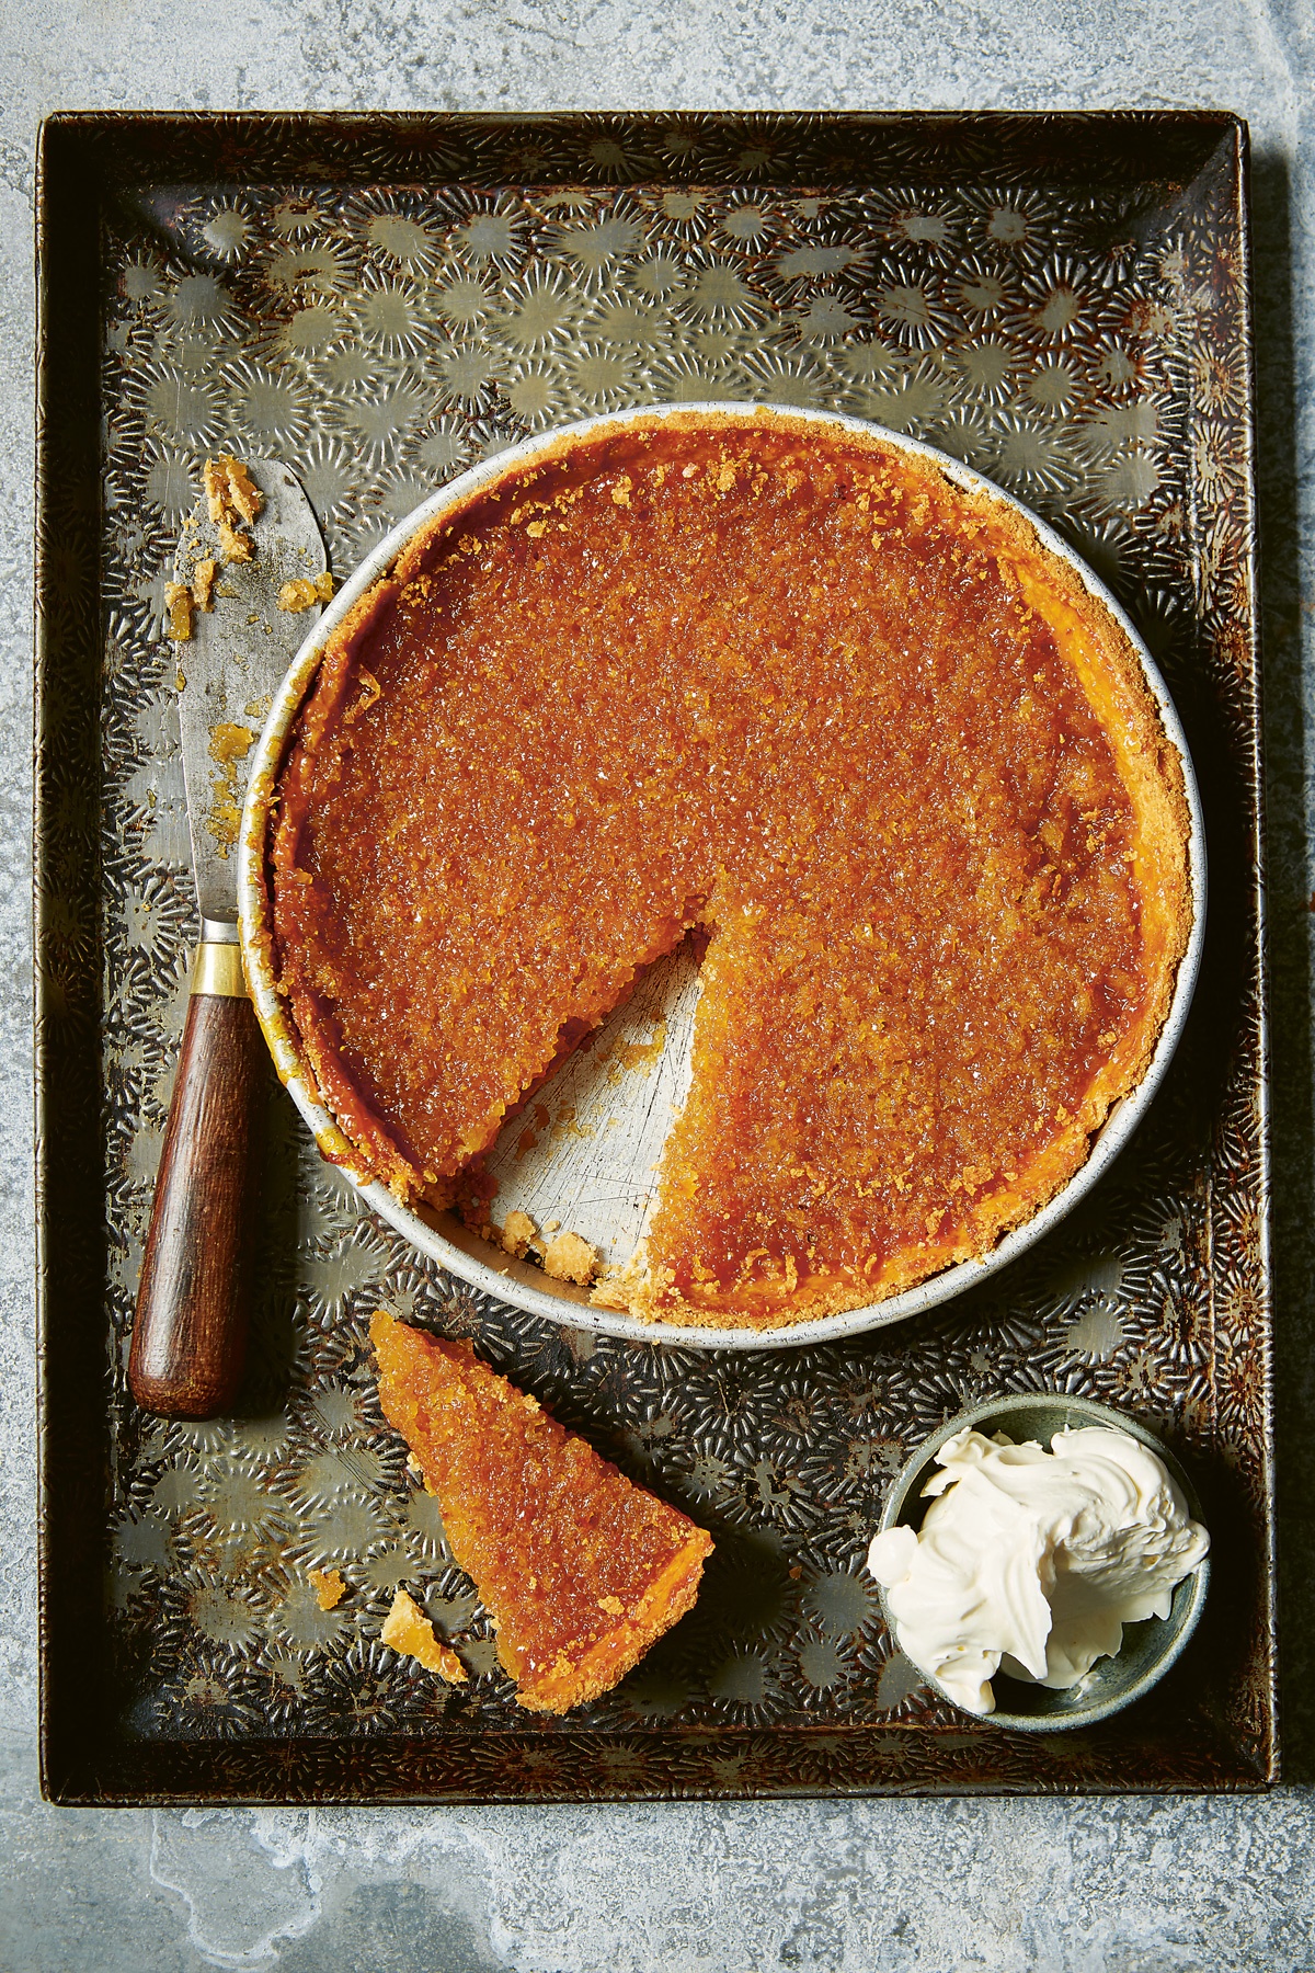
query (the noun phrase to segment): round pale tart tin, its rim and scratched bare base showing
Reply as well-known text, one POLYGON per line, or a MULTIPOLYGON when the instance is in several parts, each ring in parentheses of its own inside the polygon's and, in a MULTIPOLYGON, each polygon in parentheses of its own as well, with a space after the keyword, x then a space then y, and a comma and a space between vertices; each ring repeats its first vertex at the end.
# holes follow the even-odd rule
MULTIPOLYGON (((369 592, 371 584, 388 572, 412 537, 442 525, 448 515, 455 517, 469 501, 495 489, 505 477, 524 466, 532 466, 550 444, 562 444, 564 440, 580 442, 582 436, 595 432, 611 436, 611 432, 625 432, 633 420, 660 422, 666 416, 704 420, 718 414, 733 420, 767 420, 777 416, 771 408, 763 406, 726 404, 670 406, 666 410, 645 408, 637 414, 586 420, 586 424, 568 432, 528 440, 524 446, 513 448, 511 454, 475 468, 418 509, 416 515, 408 517, 375 550, 345 584, 335 606, 311 633, 311 639, 308 639, 270 714, 256 771, 252 773, 242 831, 241 902, 252 994, 284 1081, 311 1123, 321 1148, 347 1168, 369 1204, 422 1251, 473 1284, 556 1320, 566 1318, 589 1328, 651 1342, 775 1348, 787 1342, 808 1344, 828 1336, 856 1334, 897 1322, 921 1308, 946 1300, 950 1294, 960 1292, 1011 1261, 1090 1190, 1122 1142, 1132 1134, 1181 1032, 1205 923, 1203 831, 1191 762, 1163 681, 1145 657, 1136 631, 1118 604, 1104 592, 1102 584, 1073 556, 1059 537, 1031 515, 1025 515, 1025 509, 1000 493, 998 487, 988 485, 976 474, 936 454, 933 448, 844 416, 800 414, 795 410, 779 414, 783 420, 789 420, 793 430, 816 424, 822 428, 822 434, 830 428, 832 436, 836 432, 860 432, 867 440, 877 438, 895 452, 934 462, 942 477, 964 493, 978 499, 986 497, 1002 509, 1025 515, 1025 523, 1035 531, 1041 547, 1076 574, 1078 582, 1100 600, 1134 645, 1165 736, 1181 760, 1185 779, 1189 813, 1187 870, 1193 910, 1191 935, 1177 969, 1167 1020, 1140 1085, 1114 1105, 1102 1129, 1096 1131, 1092 1150, 1076 1176, 1035 1211, 1031 1219, 1007 1231, 996 1247, 980 1257, 946 1267, 942 1273, 911 1288, 893 1292, 885 1300, 763 1328, 722 1328, 716 1322, 688 1326, 686 1322, 643 1320, 623 1310, 591 1304, 586 1290, 572 1282, 552 1280, 530 1261, 503 1253, 491 1241, 481 1239, 475 1229, 463 1225, 451 1211, 432 1211, 424 1204, 400 1204, 382 1182, 361 1168, 361 1160, 353 1156, 353 1144, 339 1131, 335 1117, 317 1101, 315 1079, 308 1073, 298 1032, 288 1020, 286 1004, 280 1000, 272 981, 268 898, 264 886, 266 825, 274 803, 276 775, 296 714, 313 683, 319 651, 333 627, 369 592)), ((662 1144, 680 1111, 690 1079, 690 1042, 700 996, 700 949, 702 943, 696 949, 692 939, 684 939, 666 957, 641 967, 625 1002, 597 1030, 586 1036, 584 1044, 578 1044, 574 1054, 552 1071, 542 1087, 532 1089, 522 1109, 505 1123, 497 1142, 483 1156, 487 1174, 497 1182, 497 1192, 491 1200, 491 1217, 499 1225, 505 1225, 511 1213, 524 1213, 542 1235, 570 1229, 597 1249, 607 1269, 621 1267, 643 1243, 655 1202, 662 1144)), ((542 1245, 542 1239, 538 1245, 542 1245)))

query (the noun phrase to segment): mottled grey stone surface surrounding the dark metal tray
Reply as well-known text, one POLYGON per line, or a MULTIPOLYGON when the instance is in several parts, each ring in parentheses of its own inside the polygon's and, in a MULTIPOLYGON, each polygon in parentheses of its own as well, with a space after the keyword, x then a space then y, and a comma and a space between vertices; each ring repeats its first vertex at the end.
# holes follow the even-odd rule
POLYGON ((0 12, 0 1967, 1315 1967, 1315 28, 1295 0, 24 0, 0 12), (1100 109, 1250 118, 1270 760, 1285 1784, 1268 1797, 51 1809, 37 1793, 32 193, 55 109, 1100 109))

